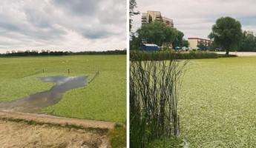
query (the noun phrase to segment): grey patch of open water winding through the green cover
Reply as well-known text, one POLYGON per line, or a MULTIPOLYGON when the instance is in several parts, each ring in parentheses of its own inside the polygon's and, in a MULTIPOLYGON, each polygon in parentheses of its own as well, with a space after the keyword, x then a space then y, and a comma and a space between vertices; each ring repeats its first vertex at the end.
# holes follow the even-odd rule
POLYGON ((50 76, 39 78, 44 82, 55 82, 50 90, 28 95, 16 101, 0 103, 0 110, 15 112, 40 112, 42 108, 52 106, 62 99, 62 95, 68 90, 83 87, 87 83, 85 76, 65 77, 50 76))

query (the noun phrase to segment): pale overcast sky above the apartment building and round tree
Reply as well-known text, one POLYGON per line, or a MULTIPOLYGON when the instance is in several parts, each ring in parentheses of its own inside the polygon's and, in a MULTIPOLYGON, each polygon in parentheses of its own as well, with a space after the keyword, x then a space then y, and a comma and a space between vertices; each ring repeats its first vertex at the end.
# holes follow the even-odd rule
MULTIPOLYGON (((174 20, 174 27, 185 38, 207 38, 214 22, 221 16, 239 20, 243 30, 256 33, 255 0, 137 0, 137 10, 161 11, 162 16, 174 20)), ((134 17, 134 30, 141 26, 141 15, 134 17)))

